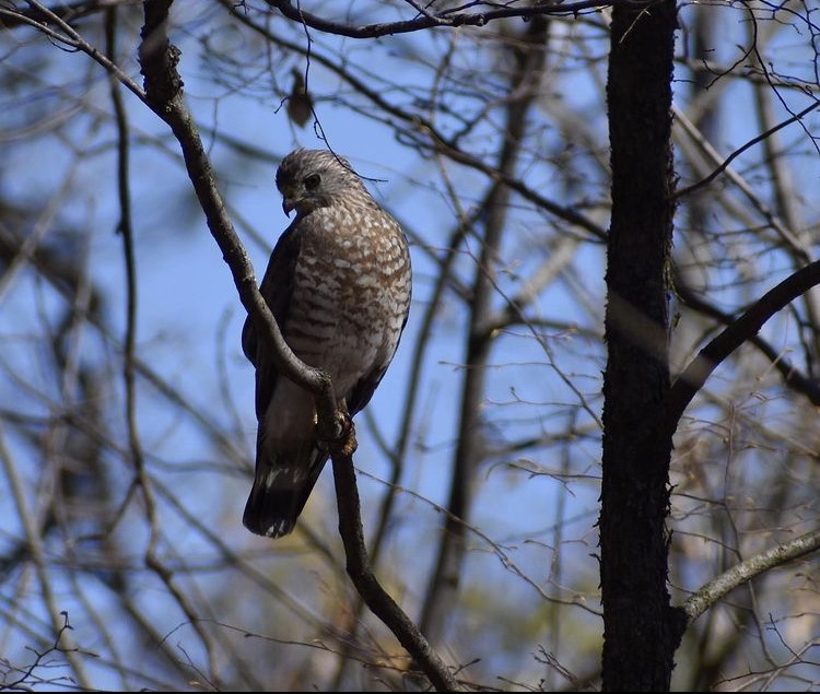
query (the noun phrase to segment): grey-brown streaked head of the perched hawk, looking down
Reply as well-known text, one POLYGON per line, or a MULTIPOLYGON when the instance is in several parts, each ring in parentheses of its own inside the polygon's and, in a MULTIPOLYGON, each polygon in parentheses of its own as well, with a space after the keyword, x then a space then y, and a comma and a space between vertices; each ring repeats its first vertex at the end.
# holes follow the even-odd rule
POLYGON ((327 150, 295 150, 282 160, 277 172, 282 209, 304 216, 326 208, 353 191, 364 191, 362 181, 345 160, 327 150))

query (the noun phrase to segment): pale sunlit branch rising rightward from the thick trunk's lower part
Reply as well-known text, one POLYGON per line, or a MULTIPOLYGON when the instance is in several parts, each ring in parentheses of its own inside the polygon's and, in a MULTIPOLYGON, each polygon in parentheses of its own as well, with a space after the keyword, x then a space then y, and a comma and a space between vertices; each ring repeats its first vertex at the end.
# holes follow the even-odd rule
POLYGON ((770 548, 740 562, 696 590, 681 607, 689 624, 729 592, 755 576, 820 549, 820 529, 770 548))

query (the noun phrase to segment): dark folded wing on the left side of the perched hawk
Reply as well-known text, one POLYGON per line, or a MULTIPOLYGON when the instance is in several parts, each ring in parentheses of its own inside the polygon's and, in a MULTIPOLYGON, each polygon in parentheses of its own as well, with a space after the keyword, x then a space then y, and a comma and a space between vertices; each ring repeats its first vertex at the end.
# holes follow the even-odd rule
MULTIPOLYGON (((300 254, 300 235, 295 220, 279 237, 265 270, 259 292, 270 307, 273 318, 284 337, 291 296, 295 283, 295 268, 300 254)), ((250 363, 256 366, 256 416, 265 416, 268 403, 277 384, 278 370, 270 356, 270 350, 258 339, 256 326, 250 316, 242 328, 242 350, 250 363)))

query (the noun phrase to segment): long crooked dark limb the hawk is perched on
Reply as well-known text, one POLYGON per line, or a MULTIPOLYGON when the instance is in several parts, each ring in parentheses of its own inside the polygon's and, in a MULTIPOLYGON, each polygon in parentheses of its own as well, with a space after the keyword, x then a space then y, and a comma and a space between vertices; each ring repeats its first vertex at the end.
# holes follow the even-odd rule
POLYGON ((348 436, 336 408, 333 386, 324 372, 302 363, 285 343, 276 319, 259 293, 254 269, 242 245, 216 188, 194 118, 183 96, 183 81, 176 66, 179 50, 167 37, 168 9, 173 0, 147 0, 142 30, 140 64, 145 78, 149 106, 172 129, 183 150, 185 165, 206 214, 208 227, 231 269, 239 298, 255 321, 258 334, 271 346, 277 367, 288 378, 311 391, 316 398, 318 427, 333 448, 333 478, 339 504, 339 530, 344 543, 348 574, 373 612, 394 632, 412 658, 421 664, 440 691, 459 690, 457 680, 433 652, 418 627, 385 592, 370 568, 360 518, 359 492, 353 472, 352 454, 355 437, 352 426, 348 436))

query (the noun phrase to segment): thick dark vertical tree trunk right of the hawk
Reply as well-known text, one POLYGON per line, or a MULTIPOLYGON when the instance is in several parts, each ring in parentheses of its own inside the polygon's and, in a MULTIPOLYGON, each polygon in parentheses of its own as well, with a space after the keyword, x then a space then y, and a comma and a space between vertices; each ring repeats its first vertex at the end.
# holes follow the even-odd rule
POLYGON ((668 691, 680 637, 666 585, 671 437, 663 426, 675 30, 668 0, 612 12, 600 516, 605 691, 668 691))

